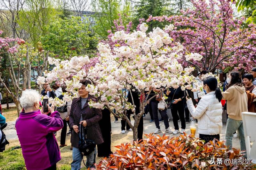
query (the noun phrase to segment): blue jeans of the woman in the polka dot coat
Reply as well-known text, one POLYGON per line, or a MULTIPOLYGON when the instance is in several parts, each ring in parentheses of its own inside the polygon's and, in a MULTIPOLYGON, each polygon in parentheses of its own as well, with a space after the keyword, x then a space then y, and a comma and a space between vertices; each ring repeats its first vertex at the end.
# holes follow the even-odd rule
MULTIPOLYGON (((95 168, 95 158, 96 158, 97 150, 95 150, 88 156, 86 156, 86 167, 95 168)), ((71 170, 78 170, 81 167, 81 161, 83 160, 83 155, 79 151, 79 148, 73 147, 72 152, 73 161, 71 163, 71 170)))

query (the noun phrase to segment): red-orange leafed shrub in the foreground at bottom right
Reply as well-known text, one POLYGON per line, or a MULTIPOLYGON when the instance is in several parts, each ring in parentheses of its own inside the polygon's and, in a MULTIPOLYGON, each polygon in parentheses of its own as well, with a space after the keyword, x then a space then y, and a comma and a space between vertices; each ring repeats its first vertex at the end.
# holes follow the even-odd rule
POLYGON ((244 159, 242 152, 228 150, 224 142, 218 140, 204 144, 203 140, 191 135, 169 137, 146 135, 147 139, 138 143, 116 146, 118 150, 109 158, 100 161, 99 170, 148 170, 148 169, 252 169, 249 165, 225 165, 225 159, 244 159), (211 165, 210 160, 223 160, 220 165, 211 165))

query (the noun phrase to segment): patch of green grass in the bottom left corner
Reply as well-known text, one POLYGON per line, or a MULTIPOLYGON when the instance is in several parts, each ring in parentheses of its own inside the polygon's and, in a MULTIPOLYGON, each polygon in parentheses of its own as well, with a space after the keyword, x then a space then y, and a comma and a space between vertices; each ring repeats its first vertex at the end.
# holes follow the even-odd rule
POLYGON ((1 170, 26 169, 21 149, 7 149, 3 153, 0 153, 0 167, 1 170))

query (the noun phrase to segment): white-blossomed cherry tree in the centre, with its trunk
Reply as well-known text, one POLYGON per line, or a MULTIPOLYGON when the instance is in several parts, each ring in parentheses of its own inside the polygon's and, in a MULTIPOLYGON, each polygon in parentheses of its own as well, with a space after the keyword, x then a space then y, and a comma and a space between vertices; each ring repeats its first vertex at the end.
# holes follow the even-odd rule
MULTIPOLYGON (((167 25, 164 30, 156 27, 152 32, 146 33, 148 25, 140 24, 140 30, 130 32, 129 25, 124 26, 116 23, 116 32, 109 32, 108 40, 98 45, 98 58, 90 60, 88 56, 75 56, 70 60, 48 59, 50 64, 56 67, 45 73, 45 77, 37 79, 38 84, 59 80, 67 85, 64 101, 70 101, 76 96, 77 90, 82 86, 79 81, 83 78, 91 80, 87 85, 89 94, 98 98, 98 102, 89 101, 94 108, 108 108, 116 117, 126 120, 133 131, 133 139, 137 140, 137 127, 140 117, 144 113, 144 106, 151 100, 145 97, 146 91, 152 88, 161 88, 161 92, 169 87, 192 89, 190 83, 195 78, 189 76, 193 67, 183 68, 178 62, 183 57, 183 46, 172 43, 168 31, 172 31, 173 25, 167 25), (84 67, 92 66, 92 67, 84 67), (86 70, 85 70, 86 68, 86 70), (126 89, 126 90, 123 90, 126 89), (135 113, 135 103, 127 102, 125 98, 132 89, 138 90, 140 97, 140 112, 135 113), (116 110, 116 113, 113 112, 116 110), (134 124, 132 125, 126 116, 126 111, 132 110, 134 124)), ((197 53, 187 53, 186 58, 201 59, 197 53), (193 56, 197 56, 198 58, 193 56)), ((196 89, 194 89, 196 90, 196 89)), ((155 93, 155 96, 158 93, 155 93)), ((132 101, 134 101, 132 96, 132 101)), ((52 100, 55 105, 61 105, 58 98, 52 100)))

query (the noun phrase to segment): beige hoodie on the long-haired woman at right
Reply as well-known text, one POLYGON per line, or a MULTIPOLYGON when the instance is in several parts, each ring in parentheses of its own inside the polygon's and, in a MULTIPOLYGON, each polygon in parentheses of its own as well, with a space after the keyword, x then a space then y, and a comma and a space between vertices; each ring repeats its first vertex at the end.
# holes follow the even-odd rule
POLYGON ((224 100, 227 100, 228 117, 242 120, 242 112, 248 111, 247 95, 243 86, 234 85, 222 92, 224 100))

